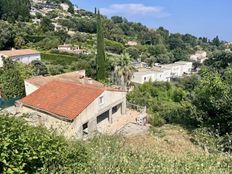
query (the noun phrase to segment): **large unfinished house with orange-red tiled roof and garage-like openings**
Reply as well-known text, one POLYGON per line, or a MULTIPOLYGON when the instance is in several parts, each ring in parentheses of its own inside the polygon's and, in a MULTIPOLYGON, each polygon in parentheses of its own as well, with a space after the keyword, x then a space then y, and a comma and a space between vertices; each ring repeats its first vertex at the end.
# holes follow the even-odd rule
POLYGON ((67 137, 102 131, 126 111, 125 91, 104 86, 84 72, 29 79, 25 88, 27 96, 19 101, 21 112, 36 115, 36 122, 67 137))

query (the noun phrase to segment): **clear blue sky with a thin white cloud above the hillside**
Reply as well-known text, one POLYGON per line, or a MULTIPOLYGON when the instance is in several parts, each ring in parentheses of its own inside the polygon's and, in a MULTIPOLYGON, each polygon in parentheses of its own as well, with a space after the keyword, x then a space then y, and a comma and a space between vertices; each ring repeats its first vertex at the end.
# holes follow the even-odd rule
POLYGON ((231 0, 72 0, 80 8, 101 9, 148 27, 232 41, 231 0))

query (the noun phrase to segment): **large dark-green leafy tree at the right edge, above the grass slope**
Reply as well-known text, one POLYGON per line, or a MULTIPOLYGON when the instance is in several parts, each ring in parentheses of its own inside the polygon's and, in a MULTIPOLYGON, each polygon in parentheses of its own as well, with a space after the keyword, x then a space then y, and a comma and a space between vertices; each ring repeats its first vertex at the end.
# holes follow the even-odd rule
MULTIPOLYGON (((227 75, 231 75, 230 72, 227 75)), ((203 69, 194 93, 193 104, 198 110, 197 119, 220 134, 231 133, 232 88, 229 79, 223 80, 219 73, 203 69)))

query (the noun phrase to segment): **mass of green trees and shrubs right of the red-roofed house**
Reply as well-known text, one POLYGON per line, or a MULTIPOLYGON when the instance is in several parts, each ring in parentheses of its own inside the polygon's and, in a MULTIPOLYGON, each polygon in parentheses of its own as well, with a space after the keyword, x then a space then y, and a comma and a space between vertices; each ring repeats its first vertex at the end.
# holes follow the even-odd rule
POLYGON ((179 124, 197 133, 198 143, 206 148, 231 153, 231 53, 219 57, 209 59, 211 66, 203 67, 197 76, 138 86, 128 94, 128 101, 147 106, 153 126, 179 124))

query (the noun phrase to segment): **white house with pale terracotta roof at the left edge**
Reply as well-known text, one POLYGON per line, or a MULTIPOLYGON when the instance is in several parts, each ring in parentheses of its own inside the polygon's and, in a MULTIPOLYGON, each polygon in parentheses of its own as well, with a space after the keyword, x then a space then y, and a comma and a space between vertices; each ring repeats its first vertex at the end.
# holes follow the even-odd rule
POLYGON ((7 50, 0 51, 0 67, 3 66, 2 57, 12 59, 13 61, 25 64, 31 63, 33 60, 40 60, 40 53, 31 49, 7 50))

